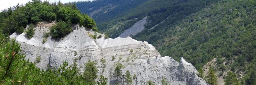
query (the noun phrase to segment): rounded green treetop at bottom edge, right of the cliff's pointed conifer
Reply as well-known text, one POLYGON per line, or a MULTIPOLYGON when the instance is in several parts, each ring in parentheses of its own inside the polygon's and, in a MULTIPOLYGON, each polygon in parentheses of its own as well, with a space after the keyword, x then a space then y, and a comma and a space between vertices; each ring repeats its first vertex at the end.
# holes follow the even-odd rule
POLYGON ((225 75, 225 85, 241 85, 239 80, 236 77, 235 73, 227 72, 225 75))

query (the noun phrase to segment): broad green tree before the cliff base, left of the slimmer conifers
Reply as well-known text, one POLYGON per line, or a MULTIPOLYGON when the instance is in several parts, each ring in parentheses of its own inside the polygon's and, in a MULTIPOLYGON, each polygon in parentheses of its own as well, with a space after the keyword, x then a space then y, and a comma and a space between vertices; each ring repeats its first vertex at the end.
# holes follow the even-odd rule
POLYGON ((91 82, 91 84, 95 84, 95 79, 97 78, 98 67, 96 67, 97 62, 88 60, 85 64, 84 76, 87 82, 91 82))

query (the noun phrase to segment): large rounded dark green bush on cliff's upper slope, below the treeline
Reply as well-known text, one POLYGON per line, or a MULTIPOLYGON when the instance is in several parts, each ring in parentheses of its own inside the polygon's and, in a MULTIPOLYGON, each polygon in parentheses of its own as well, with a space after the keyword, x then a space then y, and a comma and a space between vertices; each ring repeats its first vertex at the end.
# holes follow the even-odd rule
POLYGON ((62 38, 72 32, 70 24, 60 21, 50 29, 53 38, 62 38))

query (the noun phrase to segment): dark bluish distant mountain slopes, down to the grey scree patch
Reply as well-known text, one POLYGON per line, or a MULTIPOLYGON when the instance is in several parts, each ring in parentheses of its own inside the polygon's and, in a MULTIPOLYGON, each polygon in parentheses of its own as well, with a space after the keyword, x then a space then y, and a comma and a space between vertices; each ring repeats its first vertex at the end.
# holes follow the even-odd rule
POLYGON ((161 23, 169 16, 173 21, 199 11, 217 0, 98 0, 76 2, 79 10, 95 19, 100 31, 111 38, 120 36, 137 21, 148 16, 146 28, 161 23))

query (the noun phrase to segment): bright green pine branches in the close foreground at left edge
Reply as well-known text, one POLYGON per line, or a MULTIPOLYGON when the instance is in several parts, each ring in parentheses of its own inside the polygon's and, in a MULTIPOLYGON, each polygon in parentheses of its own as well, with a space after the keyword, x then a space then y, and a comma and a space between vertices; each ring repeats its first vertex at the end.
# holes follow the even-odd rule
POLYGON ((21 45, 15 39, 8 43, 3 43, 4 40, 0 40, 0 42, 2 42, 0 43, 0 84, 4 84, 10 81, 13 74, 24 68, 21 67, 23 62, 20 62, 20 60, 24 60, 25 55, 21 53, 21 45))

